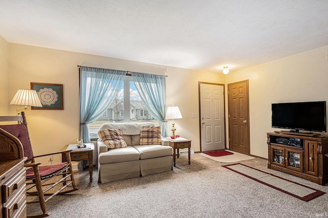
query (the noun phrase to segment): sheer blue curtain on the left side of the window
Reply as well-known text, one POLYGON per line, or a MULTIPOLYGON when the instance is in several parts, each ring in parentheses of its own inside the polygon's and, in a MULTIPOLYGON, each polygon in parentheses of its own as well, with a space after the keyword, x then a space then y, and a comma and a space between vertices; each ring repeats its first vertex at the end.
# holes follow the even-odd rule
POLYGON ((102 115, 117 96, 126 71, 80 67, 80 139, 90 143, 88 123, 102 115))

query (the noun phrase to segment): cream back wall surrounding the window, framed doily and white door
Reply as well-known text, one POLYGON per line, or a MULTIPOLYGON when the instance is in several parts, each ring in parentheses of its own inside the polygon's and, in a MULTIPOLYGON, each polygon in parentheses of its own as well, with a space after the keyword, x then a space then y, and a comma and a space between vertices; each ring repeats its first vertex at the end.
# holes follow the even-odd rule
MULTIPOLYGON (((199 151, 198 81, 224 83, 224 76, 217 73, 200 72, 160 66, 150 63, 101 57, 96 55, 46 49, 9 43, 9 93, 12 99, 18 89, 30 89, 30 82, 63 84, 64 110, 28 110, 34 155, 60 150, 64 145, 74 143, 79 133, 79 78, 77 65, 136 71, 168 75, 167 104, 180 107, 183 119, 177 120, 177 133, 190 138, 192 149, 199 151)), ((1 82, 3 83, 3 82, 1 82)), ((7 99, 7 105, 9 104, 7 99)), ((9 114, 15 115, 15 106, 9 107, 9 114)), ((168 123, 168 129, 171 127, 168 123)), ((54 158, 59 162, 60 158, 54 158)), ((47 163, 47 161, 42 161, 47 163)))

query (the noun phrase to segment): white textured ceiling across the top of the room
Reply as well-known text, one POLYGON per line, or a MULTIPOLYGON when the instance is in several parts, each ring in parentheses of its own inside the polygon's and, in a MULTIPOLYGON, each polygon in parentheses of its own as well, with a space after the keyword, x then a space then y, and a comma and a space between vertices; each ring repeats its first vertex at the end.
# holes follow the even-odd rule
POLYGON ((232 72, 328 45, 328 1, 0 0, 0 35, 25 45, 232 72))

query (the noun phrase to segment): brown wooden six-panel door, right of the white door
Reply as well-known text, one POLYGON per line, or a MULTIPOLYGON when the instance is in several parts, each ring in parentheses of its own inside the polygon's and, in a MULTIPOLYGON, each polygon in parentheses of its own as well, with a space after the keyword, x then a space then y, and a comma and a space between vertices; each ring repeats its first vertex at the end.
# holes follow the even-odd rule
POLYGON ((229 148, 250 154, 248 80, 228 84, 229 148))

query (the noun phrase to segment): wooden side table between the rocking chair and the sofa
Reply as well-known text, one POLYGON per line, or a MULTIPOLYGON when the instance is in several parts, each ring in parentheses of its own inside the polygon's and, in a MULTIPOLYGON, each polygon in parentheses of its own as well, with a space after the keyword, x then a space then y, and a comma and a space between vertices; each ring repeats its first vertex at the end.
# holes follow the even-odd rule
MULTIPOLYGON (((94 144, 93 143, 85 143, 87 147, 91 148, 74 148, 70 152, 71 161, 88 161, 89 160, 89 173, 90 173, 90 182, 92 182, 92 158, 93 158, 93 150, 94 150, 94 144)), ((69 145, 65 145, 63 147, 63 150, 67 150, 69 145)), ((66 155, 61 155, 61 161, 66 162, 66 155)))

